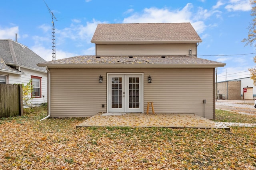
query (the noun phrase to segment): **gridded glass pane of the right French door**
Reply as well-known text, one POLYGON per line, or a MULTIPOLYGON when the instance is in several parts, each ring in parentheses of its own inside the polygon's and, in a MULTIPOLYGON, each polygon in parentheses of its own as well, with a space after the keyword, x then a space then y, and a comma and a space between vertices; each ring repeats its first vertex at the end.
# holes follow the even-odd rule
POLYGON ((129 108, 140 108, 139 77, 129 77, 129 108))

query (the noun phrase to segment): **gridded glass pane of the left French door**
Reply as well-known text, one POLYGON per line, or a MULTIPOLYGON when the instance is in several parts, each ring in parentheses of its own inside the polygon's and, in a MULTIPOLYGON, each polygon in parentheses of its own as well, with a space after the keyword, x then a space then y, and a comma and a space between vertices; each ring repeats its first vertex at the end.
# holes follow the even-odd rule
POLYGON ((112 108, 122 108, 122 78, 112 77, 111 79, 112 87, 112 108))

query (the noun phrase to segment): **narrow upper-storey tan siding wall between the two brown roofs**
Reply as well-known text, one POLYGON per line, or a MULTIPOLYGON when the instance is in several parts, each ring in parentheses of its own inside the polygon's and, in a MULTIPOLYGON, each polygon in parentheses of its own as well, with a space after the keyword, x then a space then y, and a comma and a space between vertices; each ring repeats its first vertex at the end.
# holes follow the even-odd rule
POLYGON ((196 44, 96 44, 96 55, 186 55, 192 49, 196 55, 196 44))

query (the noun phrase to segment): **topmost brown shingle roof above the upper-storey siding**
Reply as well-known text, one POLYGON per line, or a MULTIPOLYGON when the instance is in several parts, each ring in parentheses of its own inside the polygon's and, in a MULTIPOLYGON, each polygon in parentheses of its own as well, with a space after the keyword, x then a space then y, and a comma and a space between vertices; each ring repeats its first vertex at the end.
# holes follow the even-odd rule
POLYGON ((190 23, 98 24, 92 43, 103 42, 202 42, 190 23))

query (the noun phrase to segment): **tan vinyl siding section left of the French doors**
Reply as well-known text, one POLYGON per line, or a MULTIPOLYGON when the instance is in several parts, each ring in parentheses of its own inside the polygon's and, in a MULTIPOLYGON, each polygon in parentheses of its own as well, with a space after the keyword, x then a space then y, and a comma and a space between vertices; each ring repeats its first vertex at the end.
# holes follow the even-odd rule
POLYGON ((51 116, 86 117, 106 111, 106 76, 86 69, 50 69, 51 116), (102 108, 105 104, 105 108, 102 108))

